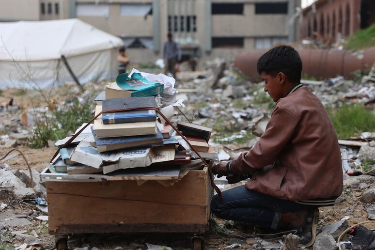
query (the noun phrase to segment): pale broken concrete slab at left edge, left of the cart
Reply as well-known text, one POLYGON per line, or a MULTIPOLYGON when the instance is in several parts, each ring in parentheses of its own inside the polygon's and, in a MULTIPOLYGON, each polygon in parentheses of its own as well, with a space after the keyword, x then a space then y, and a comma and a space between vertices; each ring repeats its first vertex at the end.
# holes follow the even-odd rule
POLYGON ((0 172, 0 187, 11 187, 14 197, 17 200, 24 200, 35 197, 35 192, 31 187, 26 187, 16 175, 12 172, 0 172))

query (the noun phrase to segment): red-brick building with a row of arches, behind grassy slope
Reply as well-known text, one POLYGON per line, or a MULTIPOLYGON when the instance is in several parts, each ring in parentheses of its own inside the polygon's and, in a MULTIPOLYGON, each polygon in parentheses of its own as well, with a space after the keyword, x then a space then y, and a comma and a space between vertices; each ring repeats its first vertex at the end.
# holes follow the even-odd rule
POLYGON ((374 0, 317 0, 302 12, 300 37, 337 41, 375 22, 374 0))

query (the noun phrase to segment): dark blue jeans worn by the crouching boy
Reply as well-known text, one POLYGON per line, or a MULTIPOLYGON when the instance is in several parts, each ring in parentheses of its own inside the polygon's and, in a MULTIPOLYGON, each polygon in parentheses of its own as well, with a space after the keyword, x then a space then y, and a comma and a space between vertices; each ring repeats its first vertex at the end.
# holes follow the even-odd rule
POLYGON ((216 194, 211 201, 212 212, 221 219, 250 222, 262 228, 277 229, 282 212, 310 209, 313 206, 278 199, 247 189, 234 187, 216 194))

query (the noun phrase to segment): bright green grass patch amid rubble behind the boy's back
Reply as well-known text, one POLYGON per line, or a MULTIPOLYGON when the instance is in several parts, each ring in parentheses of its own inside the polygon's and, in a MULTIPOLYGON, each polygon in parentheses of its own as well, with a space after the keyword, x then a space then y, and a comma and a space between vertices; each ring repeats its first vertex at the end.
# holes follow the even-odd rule
POLYGON ((339 139, 358 136, 357 129, 361 132, 375 132, 375 114, 359 104, 344 103, 341 108, 326 109, 339 139))

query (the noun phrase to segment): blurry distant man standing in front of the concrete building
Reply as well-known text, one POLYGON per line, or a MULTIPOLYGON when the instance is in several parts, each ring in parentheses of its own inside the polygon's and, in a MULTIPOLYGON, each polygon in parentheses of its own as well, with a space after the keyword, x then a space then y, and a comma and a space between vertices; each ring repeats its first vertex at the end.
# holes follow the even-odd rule
POLYGON ((173 78, 176 79, 176 70, 174 69, 176 61, 181 60, 181 49, 178 47, 177 43, 172 41, 172 34, 168 33, 168 40, 164 42, 163 58, 165 63, 164 75, 171 72, 173 78))

